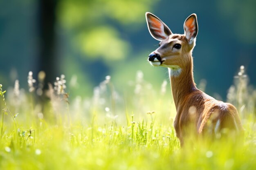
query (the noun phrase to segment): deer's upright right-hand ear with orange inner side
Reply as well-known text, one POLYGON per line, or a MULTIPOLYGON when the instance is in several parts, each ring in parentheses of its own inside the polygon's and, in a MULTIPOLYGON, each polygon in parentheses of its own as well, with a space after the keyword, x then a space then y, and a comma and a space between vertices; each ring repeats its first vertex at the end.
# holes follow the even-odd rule
POLYGON ((189 44, 192 44, 196 35, 198 34, 198 21, 196 14, 191 14, 184 22, 184 31, 186 39, 189 40, 189 44))

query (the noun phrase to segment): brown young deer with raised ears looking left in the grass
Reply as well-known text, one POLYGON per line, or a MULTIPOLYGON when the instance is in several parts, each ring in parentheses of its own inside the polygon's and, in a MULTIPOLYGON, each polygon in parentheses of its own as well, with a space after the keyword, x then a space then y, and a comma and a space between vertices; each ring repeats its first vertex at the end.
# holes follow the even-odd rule
POLYGON ((243 134, 236 108, 210 97, 195 86, 192 51, 198 33, 196 14, 185 20, 184 34, 173 34, 152 13, 146 13, 146 20, 151 36, 160 41, 159 47, 148 56, 148 61, 153 66, 168 68, 177 110, 174 128, 181 145, 184 137, 191 134, 218 137, 224 129, 228 129, 229 134, 243 134))

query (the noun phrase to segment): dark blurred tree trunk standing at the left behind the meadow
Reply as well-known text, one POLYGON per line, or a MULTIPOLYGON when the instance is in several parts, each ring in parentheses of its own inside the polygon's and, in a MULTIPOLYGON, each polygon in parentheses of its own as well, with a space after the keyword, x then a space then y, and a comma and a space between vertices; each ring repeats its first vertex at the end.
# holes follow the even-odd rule
MULTIPOLYGON (((45 71, 45 84, 56 77, 56 5, 58 0, 39 0, 39 67, 45 71)), ((45 86, 47 88, 47 86, 45 86)))

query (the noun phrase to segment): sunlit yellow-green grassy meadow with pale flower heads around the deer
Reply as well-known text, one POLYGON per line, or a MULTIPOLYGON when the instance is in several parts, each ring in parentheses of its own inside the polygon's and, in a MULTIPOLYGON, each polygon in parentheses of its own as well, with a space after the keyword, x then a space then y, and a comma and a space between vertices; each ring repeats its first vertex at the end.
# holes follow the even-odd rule
POLYGON ((28 89, 18 80, 0 86, 0 170, 256 169, 256 91, 243 67, 227 94, 243 122, 243 144, 190 141, 184 148, 173 128, 169 80, 155 88, 138 71, 117 92, 106 76, 83 98, 68 93, 64 75, 54 84, 44 83, 43 72, 34 77, 30 72, 28 89))

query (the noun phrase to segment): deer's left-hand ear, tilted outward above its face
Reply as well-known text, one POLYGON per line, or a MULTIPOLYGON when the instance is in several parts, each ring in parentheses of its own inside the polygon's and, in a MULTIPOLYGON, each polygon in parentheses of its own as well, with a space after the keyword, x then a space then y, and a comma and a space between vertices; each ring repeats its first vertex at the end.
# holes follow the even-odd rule
POLYGON ((158 41, 165 40, 172 34, 171 30, 157 16, 146 12, 148 30, 153 38, 158 41))

